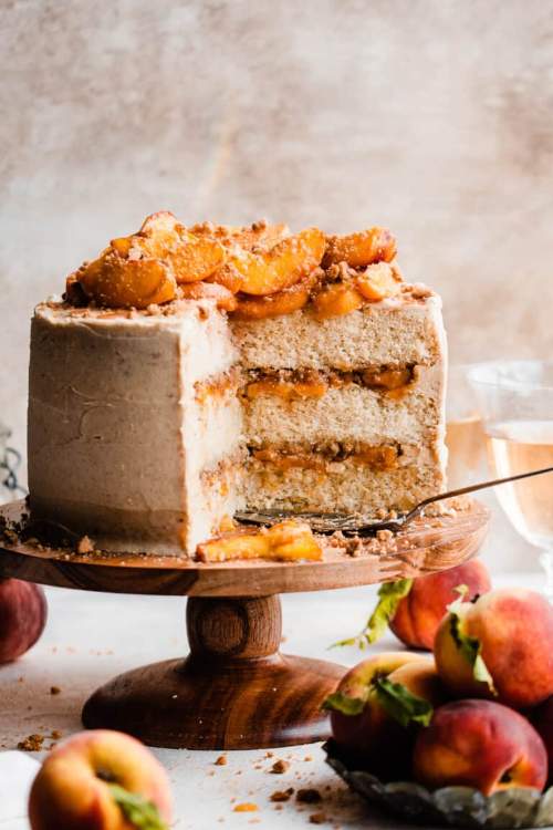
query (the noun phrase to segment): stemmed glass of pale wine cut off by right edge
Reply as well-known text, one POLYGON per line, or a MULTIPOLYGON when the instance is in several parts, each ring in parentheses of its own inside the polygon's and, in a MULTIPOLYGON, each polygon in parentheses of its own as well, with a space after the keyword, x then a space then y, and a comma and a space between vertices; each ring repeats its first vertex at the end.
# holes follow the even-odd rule
MULTIPOLYGON (((469 382, 483 417, 488 459, 498 478, 553 466, 553 361, 473 365, 469 382)), ((553 473, 501 485, 508 519, 542 550, 546 594, 553 601, 553 473)))

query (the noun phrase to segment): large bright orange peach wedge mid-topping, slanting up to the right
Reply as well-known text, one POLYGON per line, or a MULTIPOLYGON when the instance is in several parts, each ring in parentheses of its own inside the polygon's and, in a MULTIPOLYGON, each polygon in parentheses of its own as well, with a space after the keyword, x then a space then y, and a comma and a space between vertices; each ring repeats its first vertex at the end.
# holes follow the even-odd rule
POLYGON ((243 278, 241 290, 264 297, 290 288, 313 271, 321 263, 324 246, 324 234, 319 228, 307 228, 268 251, 236 252, 230 262, 243 278))

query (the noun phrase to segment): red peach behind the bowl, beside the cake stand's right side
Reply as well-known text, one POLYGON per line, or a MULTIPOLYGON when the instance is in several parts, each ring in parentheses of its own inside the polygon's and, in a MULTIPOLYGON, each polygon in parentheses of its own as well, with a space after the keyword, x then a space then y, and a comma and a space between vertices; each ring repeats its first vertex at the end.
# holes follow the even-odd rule
POLYGON ((414 579, 389 622, 394 634, 411 649, 431 651, 438 625, 457 599, 455 589, 459 585, 468 588, 468 600, 488 593, 491 581, 483 562, 472 559, 458 568, 414 579))

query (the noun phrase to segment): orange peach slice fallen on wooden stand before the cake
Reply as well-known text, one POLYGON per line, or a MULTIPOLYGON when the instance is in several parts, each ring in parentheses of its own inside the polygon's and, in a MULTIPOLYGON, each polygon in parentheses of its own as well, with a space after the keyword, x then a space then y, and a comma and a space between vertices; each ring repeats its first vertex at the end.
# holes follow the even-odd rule
POLYGON ((238 530, 222 533, 198 544, 202 562, 226 562, 232 559, 274 559, 281 562, 323 558, 320 544, 309 525, 293 519, 271 528, 238 530))

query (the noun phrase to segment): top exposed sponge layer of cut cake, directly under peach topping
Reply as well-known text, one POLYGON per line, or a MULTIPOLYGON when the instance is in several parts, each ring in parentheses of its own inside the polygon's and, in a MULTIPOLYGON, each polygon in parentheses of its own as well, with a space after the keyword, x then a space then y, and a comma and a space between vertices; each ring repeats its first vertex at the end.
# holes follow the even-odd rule
POLYGON ((362 370, 431 364, 445 355, 441 301, 420 289, 343 317, 316 320, 309 309, 231 321, 244 369, 362 370))

